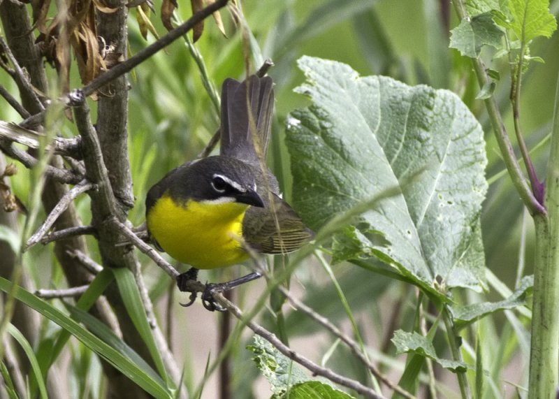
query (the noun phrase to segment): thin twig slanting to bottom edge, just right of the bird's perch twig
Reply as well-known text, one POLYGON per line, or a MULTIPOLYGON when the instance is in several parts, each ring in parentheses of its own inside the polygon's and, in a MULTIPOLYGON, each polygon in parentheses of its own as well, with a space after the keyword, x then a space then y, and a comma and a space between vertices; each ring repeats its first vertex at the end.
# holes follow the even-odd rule
POLYGON ((384 375, 377 368, 377 366, 370 363, 369 359, 361 352, 361 349, 359 348, 357 342, 355 342, 347 335, 342 333, 342 331, 340 331, 339 328, 334 326, 334 324, 332 324, 328 319, 326 319, 326 317, 321 316, 317 312, 314 312, 314 310, 312 310, 310 307, 302 303, 297 298, 293 297, 291 293, 288 290, 286 290, 283 286, 279 286, 278 288, 279 291, 281 291, 284 294, 284 296, 287 299, 289 299, 291 305, 293 305, 297 310, 300 310, 314 321, 317 321, 317 323, 321 324, 321 326, 324 326, 328 331, 333 333, 335 337, 340 338, 340 340, 344 342, 344 344, 347 344, 347 346, 349 347, 351 352, 356 356, 356 358, 358 358, 365 366, 367 366, 367 368, 372 372, 372 374, 375 375, 375 377, 377 377, 380 381, 382 381, 386 386, 388 386, 390 389, 399 393, 401 396, 405 398, 409 398, 409 399, 415 398, 412 394, 410 394, 409 392, 405 391, 400 386, 398 386, 398 384, 394 384, 393 382, 391 382, 388 379, 388 377, 386 377, 386 375, 384 375))

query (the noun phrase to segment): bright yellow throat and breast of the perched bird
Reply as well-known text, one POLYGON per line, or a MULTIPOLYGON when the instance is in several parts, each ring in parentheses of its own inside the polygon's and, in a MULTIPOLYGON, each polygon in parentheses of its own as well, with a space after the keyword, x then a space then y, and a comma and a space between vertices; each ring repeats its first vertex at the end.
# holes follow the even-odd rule
POLYGON ((242 248, 247 205, 189 200, 184 205, 164 194, 147 214, 147 228, 161 248, 198 269, 231 266, 248 259, 242 248))

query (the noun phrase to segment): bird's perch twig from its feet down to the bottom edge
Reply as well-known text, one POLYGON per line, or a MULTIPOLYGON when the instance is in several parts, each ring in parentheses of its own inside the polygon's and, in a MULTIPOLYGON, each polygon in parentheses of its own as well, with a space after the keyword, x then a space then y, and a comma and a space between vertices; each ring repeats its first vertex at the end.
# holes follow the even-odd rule
POLYGON ((321 367, 320 365, 317 365, 317 363, 310 361, 310 359, 305 358, 305 356, 302 356, 298 354, 296 351, 293 351, 293 349, 287 347, 281 340, 279 340, 279 338, 277 338, 275 334, 270 333, 270 331, 266 330, 266 328, 263 328, 259 324, 254 323, 254 321, 245 319, 241 310, 236 305, 231 303, 231 301, 227 300, 224 297, 223 293, 215 292, 213 293, 213 296, 214 299, 217 300, 217 302, 219 302, 220 305, 225 307, 229 312, 233 313, 233 315, 237 319, 239 319, 242 323, 246 324, 246 326, 250 328, 252 331, 254 331, 254 333, 260 335, 262 338, 270 342, 270 344, 272 344, 278 351, 280 351, 282 354, 290 358, 292 361, 295 361, 296 363, 302 365, 304 368, 307 368, 307 370, 310 370, 313 373, 313 375, 320 375, 321 377, 325 377, 326 379, 329 379, 330 381, 335 382, 336 384, 340 384, 349 389, 353 389, 360 395, 365 396, 367 398, 375 398, 375 399, 384 398, 384 396, 379 395, 378 393, 370 389, 368 386, 361 384, 361 382, 339 375, 328 368, 321 367))

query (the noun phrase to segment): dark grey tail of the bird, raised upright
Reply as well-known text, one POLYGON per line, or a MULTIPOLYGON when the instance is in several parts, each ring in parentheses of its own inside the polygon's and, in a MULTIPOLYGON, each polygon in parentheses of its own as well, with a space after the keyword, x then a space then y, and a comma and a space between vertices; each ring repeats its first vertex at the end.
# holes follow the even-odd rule
POLYGON ((255 164, 266 159, 274 110, 272 78, 250 76, 222 86, 221 154, 255 164))

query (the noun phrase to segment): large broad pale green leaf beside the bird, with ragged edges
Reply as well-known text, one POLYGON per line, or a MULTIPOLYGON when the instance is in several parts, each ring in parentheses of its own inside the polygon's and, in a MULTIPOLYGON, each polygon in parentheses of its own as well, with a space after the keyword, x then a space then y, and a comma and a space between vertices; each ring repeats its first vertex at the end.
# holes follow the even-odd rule
POLYGON ((360 78, 335 61, 303 57, 299 66, 307 82, 297 91, 313 105, 289 116, 287 145, 293 205, 305 222, 319 230, 398 187, 399 195, 377 201, 343 229, 334 256, 375 256, 431 293, 481 289, 486 157, 483 132, 466 106, 446 90, 360 78))

